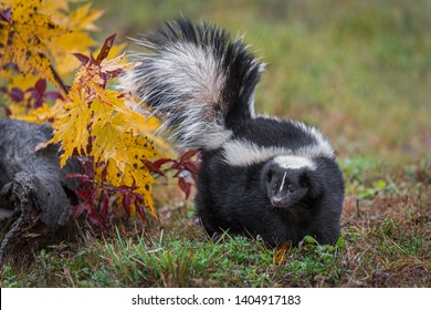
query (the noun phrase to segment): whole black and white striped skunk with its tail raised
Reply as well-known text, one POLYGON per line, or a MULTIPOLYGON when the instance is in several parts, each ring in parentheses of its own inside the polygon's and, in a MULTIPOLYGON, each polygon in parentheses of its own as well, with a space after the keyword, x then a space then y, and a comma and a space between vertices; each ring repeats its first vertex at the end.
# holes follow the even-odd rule
POLYGON ((135 55, 122 87, 162 118, 179 149, 201 151, 195 202, 208 234, 335 242, 344 180, 334 149, 314 127, 255 116, 263 64, 242 39, 182 19, 136 42, 149 53, 135 55))

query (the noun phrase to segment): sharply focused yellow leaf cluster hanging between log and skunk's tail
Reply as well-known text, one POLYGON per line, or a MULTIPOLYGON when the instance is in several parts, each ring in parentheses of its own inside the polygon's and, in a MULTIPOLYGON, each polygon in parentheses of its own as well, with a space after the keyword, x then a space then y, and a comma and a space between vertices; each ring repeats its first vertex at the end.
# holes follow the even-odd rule
MULTIPOLYGON (((66 102, 56 112, 51 143, 61 143, 61 165, 75 151, 107 164, 106 179, 96 169, 99 180, 133 187, 157 217, 151 197, 155 179, 146 162, 160 157, 154 146, 155 142, 162 144, 154 136, 159 122, 127 107, 128 94, 105 90, 106 76, 126 65, 124 55, 118 55, 99 64, 88 62, 77 71, 66 102)), ((139 216, 134 206, 130 214, 139 216)))

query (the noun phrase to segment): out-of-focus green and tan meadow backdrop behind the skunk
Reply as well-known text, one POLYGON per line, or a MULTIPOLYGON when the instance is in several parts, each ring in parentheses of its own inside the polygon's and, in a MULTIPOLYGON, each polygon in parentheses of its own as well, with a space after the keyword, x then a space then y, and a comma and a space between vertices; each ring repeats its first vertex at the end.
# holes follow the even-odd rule
MULTIPOLYGON (((339 156, 401 164, 431 151, 431 1, 94 1, 99 42, 165 20, 244 34, 265 63, 256 111, 319 127, 339 156)), ((129 44, 129 50, 139 50, 129 44)))

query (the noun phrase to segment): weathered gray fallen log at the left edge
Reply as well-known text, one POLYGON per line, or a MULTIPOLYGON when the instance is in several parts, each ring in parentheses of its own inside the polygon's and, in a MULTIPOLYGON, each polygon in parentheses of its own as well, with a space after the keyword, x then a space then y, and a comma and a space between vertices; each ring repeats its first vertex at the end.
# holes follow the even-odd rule
POLYGON ((48 124, 0 118, 0 265, 30 254, 70 221, 67 193, 76 184, 64 176, 78 172, 80 163, 60 169, 55 145, 35 151, 51 136, 48 124))

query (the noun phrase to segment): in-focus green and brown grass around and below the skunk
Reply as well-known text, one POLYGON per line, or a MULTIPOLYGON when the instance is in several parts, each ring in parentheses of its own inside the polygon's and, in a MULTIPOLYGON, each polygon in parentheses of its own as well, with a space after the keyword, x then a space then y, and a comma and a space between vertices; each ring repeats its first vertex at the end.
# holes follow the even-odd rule
POLYGON ((192 206, 182 205, 166 208, 141 236, 85 234, 42 249, 30 264, 4 267, 0 286, 430 287, 429 166, 403 173, 381 164, 367 170, 360 161, 343 166, 348 184, 360 186, 347 187, 336 246, 306 237, 283 252, 260 239, 224 235, 209 241, 192 224, 192 206))

